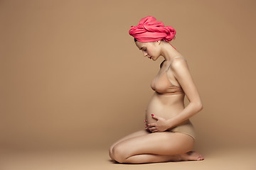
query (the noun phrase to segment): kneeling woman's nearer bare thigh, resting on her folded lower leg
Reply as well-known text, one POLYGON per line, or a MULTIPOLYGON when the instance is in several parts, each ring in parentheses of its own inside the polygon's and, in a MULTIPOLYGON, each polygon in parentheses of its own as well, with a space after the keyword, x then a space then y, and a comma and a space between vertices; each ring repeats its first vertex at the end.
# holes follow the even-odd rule
POLYGON ((191 136, 179 132, 154 132, 123 140, 113 148, 114 159, 127 159, 136 154, 183 154, 193 149, 191 136))

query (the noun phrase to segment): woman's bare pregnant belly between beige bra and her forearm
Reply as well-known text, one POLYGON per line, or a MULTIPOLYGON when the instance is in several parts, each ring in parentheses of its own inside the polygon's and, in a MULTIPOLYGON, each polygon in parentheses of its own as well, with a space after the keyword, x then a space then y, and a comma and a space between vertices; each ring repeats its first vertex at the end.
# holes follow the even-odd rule
POLYGON ((148 120, 148 123, 156 122, 156 120, 151 117, 151 114, 169 119, 181 113, 185 108, 184 96, 184 94, 163 95, 154 92, 146 108, 146 120, 148 120))

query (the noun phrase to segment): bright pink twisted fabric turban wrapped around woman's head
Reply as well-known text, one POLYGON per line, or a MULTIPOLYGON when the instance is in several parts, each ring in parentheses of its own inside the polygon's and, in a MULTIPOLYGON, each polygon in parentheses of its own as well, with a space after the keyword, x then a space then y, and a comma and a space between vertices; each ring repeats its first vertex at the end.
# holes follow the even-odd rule
POLYGON ((171 26, 164 26, 161 21, 156 21, 154 16, 146 16, 139 21, 138 26, 131 26, 129 35, 139 42, 153 42, 158 40, 171 41, 175 39, 176 30, 171 26))

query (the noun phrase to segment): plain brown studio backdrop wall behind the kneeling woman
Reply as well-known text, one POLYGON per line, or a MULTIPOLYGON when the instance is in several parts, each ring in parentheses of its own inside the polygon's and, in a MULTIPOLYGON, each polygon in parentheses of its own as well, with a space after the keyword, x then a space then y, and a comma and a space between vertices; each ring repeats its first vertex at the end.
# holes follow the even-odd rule
POLYGON ((202 98, 196 149, 255 145, 255 4, 0 1, 1 149, 107 149, 143 129, 164 58, 128 31, 148 15, 176 29, 202 98))

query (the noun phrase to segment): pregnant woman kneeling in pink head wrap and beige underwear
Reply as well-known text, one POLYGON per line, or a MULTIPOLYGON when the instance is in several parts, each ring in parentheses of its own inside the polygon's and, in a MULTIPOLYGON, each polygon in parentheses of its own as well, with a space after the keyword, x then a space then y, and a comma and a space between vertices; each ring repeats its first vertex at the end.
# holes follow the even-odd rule
POLYGON ((191 151, 196 135, 189 120, 203 105, 186 59, 169 42, 175 34, 174 28, 164 26, 153 16, 142 18, 138 26, 129 30, 144 57, 156 61, 162 56, 164 62, 151 82, 154 94, 146 108, 145 129, 123 137, 110 147, 110 157, 116 162, 203 160, 201 154, 191 151), (186 108, 185 95, 190 101, 186 108))

